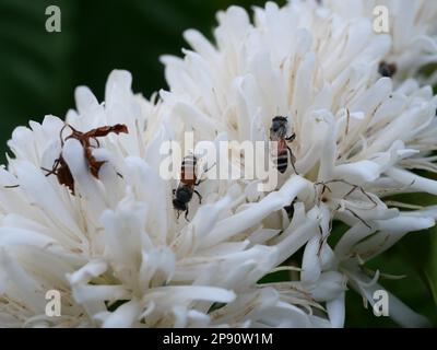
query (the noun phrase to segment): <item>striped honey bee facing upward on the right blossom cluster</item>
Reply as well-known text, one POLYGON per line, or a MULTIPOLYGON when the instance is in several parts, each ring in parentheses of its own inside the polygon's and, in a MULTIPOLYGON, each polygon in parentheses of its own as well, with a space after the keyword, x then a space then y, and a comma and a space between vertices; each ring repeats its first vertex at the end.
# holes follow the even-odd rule
POLYGON ((277 171, 284 174, 288 167, 288 163, 292 164, 294 172, 297 174, 294 156, 292 149, 288 147, 287 142, 293 142, 296 138, 296 133, 292 133, 290 137, 286 136, 288 129, 288 120, 286 117, 276 116, 272 119, 272 125, 270 127, 270 141, 276 141, 277 147, 274 152, 274 163, 277 171), (290 153, 290 159, 288 159, 290 153))

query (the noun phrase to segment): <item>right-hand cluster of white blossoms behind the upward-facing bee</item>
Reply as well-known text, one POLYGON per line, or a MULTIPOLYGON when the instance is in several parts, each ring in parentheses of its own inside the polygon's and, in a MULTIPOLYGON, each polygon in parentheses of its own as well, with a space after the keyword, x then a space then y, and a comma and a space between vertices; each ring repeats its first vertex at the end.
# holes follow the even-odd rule
MULTIPOLYGON (((184 59, 163 58, 170 93, 162 96, 173 105, 174 120, 181 117, 194 129, 218 122, 220 131, 238 140, 264 140, 273 116, 288 117, 290 132, 296 133, 291 147, 297 172, 317 191, 298 199, 320 231, 308 237, 302 283, 317 301, 327 302, 331 324, 342 326, 344 279, 370 298, 362 289, 365 275, 356 271, 405 233, 434 225, 432 212, 413 217, 388 209, 383 198, 403 191, 437 194, 435 180, 410 172, 436 171, 430 152, 437 140, 437 98, 414 80, 393 88, 389 78, 380 78, 379 62, 395 52, 391 38, 376 34, 368 18, 347 20, 316 3, 294 1, 282 9, 274 3, 257 8, 255 24, 235 7, 217 19, 216 46, 188 31, 185 37, 193 50, 185 50, 184 59), (189 108, 180 113, 181 106, 189 108), (351 226, 341 241, 346 252, 326 242, 333 219, 351 226)), ((290 167, 287 176, 292 173, 290 167)), ((392 300, 398 322, 424 323, 418 316, 397 317, 409 308, 392 300)))

